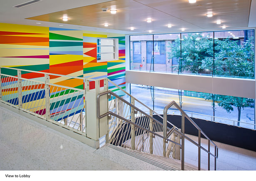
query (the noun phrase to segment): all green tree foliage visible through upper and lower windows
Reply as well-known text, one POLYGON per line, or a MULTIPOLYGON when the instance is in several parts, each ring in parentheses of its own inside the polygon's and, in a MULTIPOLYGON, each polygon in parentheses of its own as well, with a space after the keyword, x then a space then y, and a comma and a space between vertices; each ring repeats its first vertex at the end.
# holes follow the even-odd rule
MULTIPOLYGON (((246 33, 246 32, 245 32, 246 33)), ((244 43, 239 40, 213 40, 201 33, 189 33, 180 40, 177 38, 169 44, 169 58, 180 58, 179 72, 193 74, 212 74, 214 57, 214 74, 223 77, 254 78, 254 38, 244 43), (215 47, 213 46, 215 44, 215 47)), ((254 99, 214 95, 217 104, 231 112, 238 109, 238 121, 241 109, 254 107, 254 99)), ((206 99, 212 99, 209 95, 206 99)), ((239 126, 239 122, 238 122, 239 126)))

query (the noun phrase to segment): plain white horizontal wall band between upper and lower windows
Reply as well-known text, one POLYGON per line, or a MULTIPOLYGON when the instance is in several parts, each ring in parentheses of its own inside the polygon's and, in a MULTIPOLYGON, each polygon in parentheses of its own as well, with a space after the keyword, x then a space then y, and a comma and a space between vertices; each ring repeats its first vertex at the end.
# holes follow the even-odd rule
POLYGON ((127 70, 126 82, 255 99, 254 79, 234 79, 127 70))

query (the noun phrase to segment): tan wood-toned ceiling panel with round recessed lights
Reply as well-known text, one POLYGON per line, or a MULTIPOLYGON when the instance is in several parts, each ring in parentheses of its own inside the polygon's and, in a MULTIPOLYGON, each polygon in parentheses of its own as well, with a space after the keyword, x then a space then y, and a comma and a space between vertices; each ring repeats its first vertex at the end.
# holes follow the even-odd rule
POLYGON ((114 0, 95 5, 53 12, 46 15, 30 17, 30 20, 66 23, 80 26, 104 28, 108 23, 110 29, 136 32, 167 32, 186 30, 219 29, 221 25, 228 28, 247 27, 251 0, 197 0, 190 4, 188 0, 114 0), (107 12, 102 8, 107 7, 107 12), (109 10, 116 9, 113 15, 109 10), (213 17, 206 14, 212 12, 213 17), (69 20, 62 21, 63 15, 69 20), (147 18, 152 18, 147 23, 147 18), (216 24, 221 20, 221 25, 216 24), (172 27, 168 28, 167 25, 172 27))

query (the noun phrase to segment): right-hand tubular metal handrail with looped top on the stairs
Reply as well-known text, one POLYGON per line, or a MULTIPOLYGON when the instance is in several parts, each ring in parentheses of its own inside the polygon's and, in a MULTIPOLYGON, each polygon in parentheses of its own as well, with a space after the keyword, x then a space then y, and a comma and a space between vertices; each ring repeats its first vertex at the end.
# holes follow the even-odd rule
MULTIPOLYGON (((179 109, 179 111, 181 112, 181 169, 184 169, 184 138, 188 139, 191 143, 193 143, 194 145, 198 146, 198 170, 200 170, 201 167, 201 149, 206 151, 208 153, 208 170, 210 170, 210 155, 214 156, 214 170, 216 170, 216 159, 218 158, 218 152, 219 152, 219 148, 216 144, 214 144, 213 141, 211 141, 211 139, 209 139, 208 136, 206 136, 206 134, 200 129, 200 127, 186 114, 186 112, 184 112, 181 107, 179 107, 179 105, 175 102, 172 101, 170 102, 166 107, 164 107, 164 119, 163 119, 163 124, 164 124, 164 137, 167 137, 167 111, 171 106, 175 106, 177 109, 179 109), (196 129, 198 130, 198 144, 189 139, 186 135, 185 135, 185 117, 196 127, 196 129), (208 151, 201 146, 201 134, 203 134, 205 136, 205 138, 208 140, 208 151), (214 154, 212 154, 210 152, 210 143, 212 143, 214 145, 214 154)), ((169 133, 168 133, 169 134, 169 133)), ((179 133, 177 133, 179 134, 179 133)))

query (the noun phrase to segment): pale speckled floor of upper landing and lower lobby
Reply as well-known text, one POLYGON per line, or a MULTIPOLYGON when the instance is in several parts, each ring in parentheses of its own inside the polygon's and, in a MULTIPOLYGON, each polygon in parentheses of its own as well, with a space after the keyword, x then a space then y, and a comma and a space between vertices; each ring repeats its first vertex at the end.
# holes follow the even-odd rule
MULTIPOLYGON (((191 138, 197 140, 195 136, 191 138)), ((206 140, 201 142, 207 148, 206 140)), ((256 170, 255 151, 216 144, 217 170, 256 170)), ((117 160, 117 151, 93 149, 3 107, 0 107, 0 145, 0 170, 161 170, 123 153, 122 159, 117 160)), ((185 150, 186 163, 197 166, 197 147, 186 141, 185 150)), ((210 166, 213 170, 213 159, 210 166)), ((207 169, 204 152, 201 168, 207 169)))

